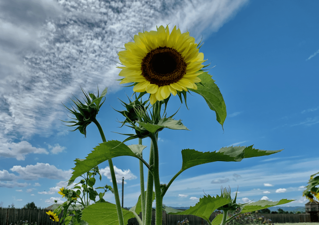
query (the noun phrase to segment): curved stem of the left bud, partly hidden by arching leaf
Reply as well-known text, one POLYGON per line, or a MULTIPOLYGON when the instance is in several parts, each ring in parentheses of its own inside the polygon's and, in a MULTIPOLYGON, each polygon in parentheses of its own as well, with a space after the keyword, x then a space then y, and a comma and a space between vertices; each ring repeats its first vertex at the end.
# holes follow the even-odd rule
MULTIPOLYGON (((104 136, 104 132, 103 132, 102 127, 99 124, 99 122, 94 118, 93 119, 93 123, 95 123, 95 125, 98 127, 98 129, 100 131, 100 135, 101 135, 102 141, 106 142, 106 138, 104 136)), ((115 195, 115 203, 116 203, 116 210, 117 210, 117 216, 118 216, 118 219, 119 219, 119 224, 120 225, 124 225, 123 213, 122 213, 121 202, 120 202, 119 192, 118 192, 118 188, 117 188, 116 177, 115 177, 115 172, 114 172, 112 159, 108 160, 108 165, 110 167, 110 172, 111 172, 111 176, 112 176, 113 189, 114 189, 114 195, 115 195)))

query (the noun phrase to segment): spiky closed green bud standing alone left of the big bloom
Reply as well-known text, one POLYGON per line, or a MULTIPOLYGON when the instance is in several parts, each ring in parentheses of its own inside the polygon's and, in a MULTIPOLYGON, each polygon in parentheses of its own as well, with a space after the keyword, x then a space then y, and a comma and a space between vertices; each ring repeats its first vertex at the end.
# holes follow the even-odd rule
MULTIPOLYGON (((81 87, 82 89, 82 87, 81 87)), ((82 92, 83 92, 83 89, 82 89, 82 92)), ((88 96, 85 94, 85 97, 87 99, 87 102, 85 101, 86 105, 82 104, 82 102, 80 102, 79 100, 79 103, 78 102, 75 102, 73 99, 71 99, 75 104, 76 106, 78 107, 78 110, 79 110, 79 113, 76 112, 76 111, 72 111, 70 110, 68 107, 66 107, 68 110, 70 110, 70 113, 74 114, 76 116, 76 120, 78 120, 78 122, 76 121, 63 121, 63 122, 66 122, 66 123, 76 123, 74 125, 70 125, 70 126, 78 126, 75 130, 79 130, 82 134, 85 135, 85 138, 86 138, 86 127, 91 123, 93 122, 96 117, 96 115, 98 114, 99 110, 100 110, 100 107, 102 106, 102 104, 104 103, 104 101, 100 104, 102 98, 106 95, 106 93, 108 92, 108 88, 106 87, 104 89, 104 91, 102 92, 101 96, 99 97, 99 87, 98 87, 98 97, 96 98, 94 94, 90 93, 89 92, 89 95, 90 97, 92 98, 92 102, 91 100, 88 98, 88 96)), ((85 100, 85 99, 84 99, 85 100)), ((72 107, 72 109, 74 109, 72 107)), ((71 119, 75 119, 75 118, 71 118, 71 119)), ((69 125, 65 125, 65 126, 69 126, 69 125)), ((75 131, 73 130, 73 131, 75 131)))

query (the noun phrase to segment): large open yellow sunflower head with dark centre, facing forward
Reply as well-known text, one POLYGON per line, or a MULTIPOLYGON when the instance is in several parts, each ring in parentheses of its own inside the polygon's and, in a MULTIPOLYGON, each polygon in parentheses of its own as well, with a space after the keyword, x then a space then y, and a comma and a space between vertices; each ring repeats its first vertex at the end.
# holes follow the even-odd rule
POLYGON ((139 32, 124 46, 126 50, 118 53, 124 66, 116 67, 124 77, 120 84, 134 82, 133 91, 150 93, 152 105, 170 94, 197 90, 196 83, 201 82, 197 76, 206 60, 189 32, 182 34, 174 26, 170 34, 168 25, 160 26, 157 31, 139 32))

